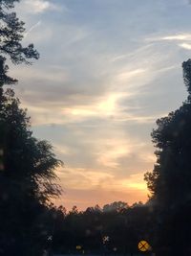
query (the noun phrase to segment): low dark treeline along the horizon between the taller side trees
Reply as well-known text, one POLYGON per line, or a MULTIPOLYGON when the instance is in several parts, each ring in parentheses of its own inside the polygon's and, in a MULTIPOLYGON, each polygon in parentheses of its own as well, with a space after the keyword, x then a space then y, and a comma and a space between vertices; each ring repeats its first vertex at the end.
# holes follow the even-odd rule
POLYGON ((128 206, 121 201, 103 208, 88 207, 85 211, 74 206, 68 213, 62 206, 52 207, 52 221, 48 221, 53 227, 50 246, 58 254, 138 253, 140 240, 153 243, 152 211, 149 204, 138 202, 128 206), (105 237, 108 241, 104 243, 105 237))

